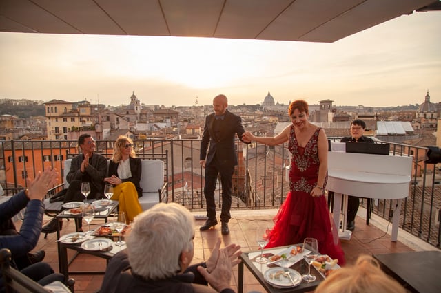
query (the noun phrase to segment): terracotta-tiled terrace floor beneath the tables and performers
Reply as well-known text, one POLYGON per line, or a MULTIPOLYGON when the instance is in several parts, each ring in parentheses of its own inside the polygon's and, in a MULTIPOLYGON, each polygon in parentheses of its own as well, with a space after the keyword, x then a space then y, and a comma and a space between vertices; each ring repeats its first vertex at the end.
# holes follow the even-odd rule
MULTIPOLYGON (((232 210, 232 219, 229 222, 231 230, 230 235, 220 235, 220 228, 216 226, 215 230, 208 230, 205 232, 199 231, 198 227, 204 223, 204 220, 196 220, 195 239, 194 239, 194 259, 193 263, 204 261, 209 257, 209 253, 214 246, 217 237, 223 238, 222 246, 229 243, 237 243, 242 247, 243 252, 257 250, 258 246, 255 241, 254 230, 250 228, 250 224, 255 221, 265 221, 271 224, 272 218, 276 215, 276 209, 267 210, 232 210)), ((198 212, 194 215, 201 215, 198 212)), ((353 263, 360 254, 381 254, 390 252, 410 252, 422 250, 437 250, 437 248, 424 243, 413 237, 409 233, 401 230, 398 232, 398 241, 392 242, 390 236, 391 227, 389 222, 372 214, 369 220, 369 226, 365 224, 366 210, 360 206, 358 216, 356 217, 356 229, 349 241, 342 240, 342 248, 345 251, 347 263, 353 263), (389 229, 388 229, 389 228, 389 229), (387 232, 386 232, 387 231, 387 232)), ((45 216, 44 221, 50 218, 45 216)), ((94 220, 93 224, 99 225, 102 221, 94 220)), ((19 222, 17 228, 19 228, 19 222)), ((74 221, 64 221, 61 235, 74 232, 74 221)), ((55 233, 48 235, 47 239, 41 235, 39 243, 34 250, 45 250, 46 256, 44 261, 50 263, 52 268, 58 272, 58 252, 57 243, 55 242, 57 235, 55 233)), ((74 251, 69 250, 69 257, 74 256, 74 251)), ((88 268, 88 270, 103 271, 105 270, 105 259, 93 257, 89 254, 80 254, 72 264, 69 270, 81 271, 88 268)), ((101 287, 103 281, 103 274, 72 274, 70 277, 75 279, 75 292, 88 293, 96 292, 101 287)), ((234 268, 232 287, 237 289, 237 267, 234 268)), ((258 284, 258 281, 245 268, 244 274, 244 292, 250 290, 258 290, 265 292, 263 287, 258 284)))

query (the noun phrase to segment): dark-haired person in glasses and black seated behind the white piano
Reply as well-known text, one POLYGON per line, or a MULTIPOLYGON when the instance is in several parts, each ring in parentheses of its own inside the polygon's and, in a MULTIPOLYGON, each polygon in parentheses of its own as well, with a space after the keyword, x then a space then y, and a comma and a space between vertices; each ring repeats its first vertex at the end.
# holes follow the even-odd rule
MULTIPOLYGON (((362 142, 373 144, 372 138, 363 135, 365 133, 366 123, 363 120, 356 119, 351 122, 351 136, 342 138, 340 142, 362 142)), ((368 199, 369 200, 369 199, 368 199)), ((356 228, 356 215, 360 200, 358 197, 348 195, 347 197, 347 230, 353 231, 356 228)))

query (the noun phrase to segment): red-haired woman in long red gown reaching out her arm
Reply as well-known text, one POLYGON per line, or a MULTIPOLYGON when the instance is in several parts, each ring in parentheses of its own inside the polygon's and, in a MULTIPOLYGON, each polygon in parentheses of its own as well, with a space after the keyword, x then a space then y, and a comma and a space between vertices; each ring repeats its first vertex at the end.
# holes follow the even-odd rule
POLYGON ((328 176, 325 131, 309 123, 308 104, 304 100, 291 102, 288 113, 292 124, 272 138, 243 134, 244 140, 271 146, 288 142, 292 153, 289 193, 274 217, 275 225, 265 248, 303 243, 306 237, 314 237, 320 253, 344 265, 345 253, 324 196, 328 176))

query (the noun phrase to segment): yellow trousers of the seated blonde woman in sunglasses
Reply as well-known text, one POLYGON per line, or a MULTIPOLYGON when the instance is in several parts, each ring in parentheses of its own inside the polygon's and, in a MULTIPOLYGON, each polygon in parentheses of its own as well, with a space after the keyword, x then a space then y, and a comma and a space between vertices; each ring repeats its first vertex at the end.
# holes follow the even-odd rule
POLYGON ((123 182, 113 188, 112 200, 119 201, 119 210, 125 213, 127 224, 133 221, 136 215, 143 212, 138 201, 138 191, 132 182, 123 182))

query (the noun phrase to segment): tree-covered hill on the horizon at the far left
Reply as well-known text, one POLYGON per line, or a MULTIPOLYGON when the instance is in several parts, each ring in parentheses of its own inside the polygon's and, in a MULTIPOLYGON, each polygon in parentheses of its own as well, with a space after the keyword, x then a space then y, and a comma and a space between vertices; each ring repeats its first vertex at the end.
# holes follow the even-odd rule
POLYGON ((0 99, 0 115, 9 114, 19 118, 31 116, 45 116, 45 109, 41 100, 12 100, 0 99))

